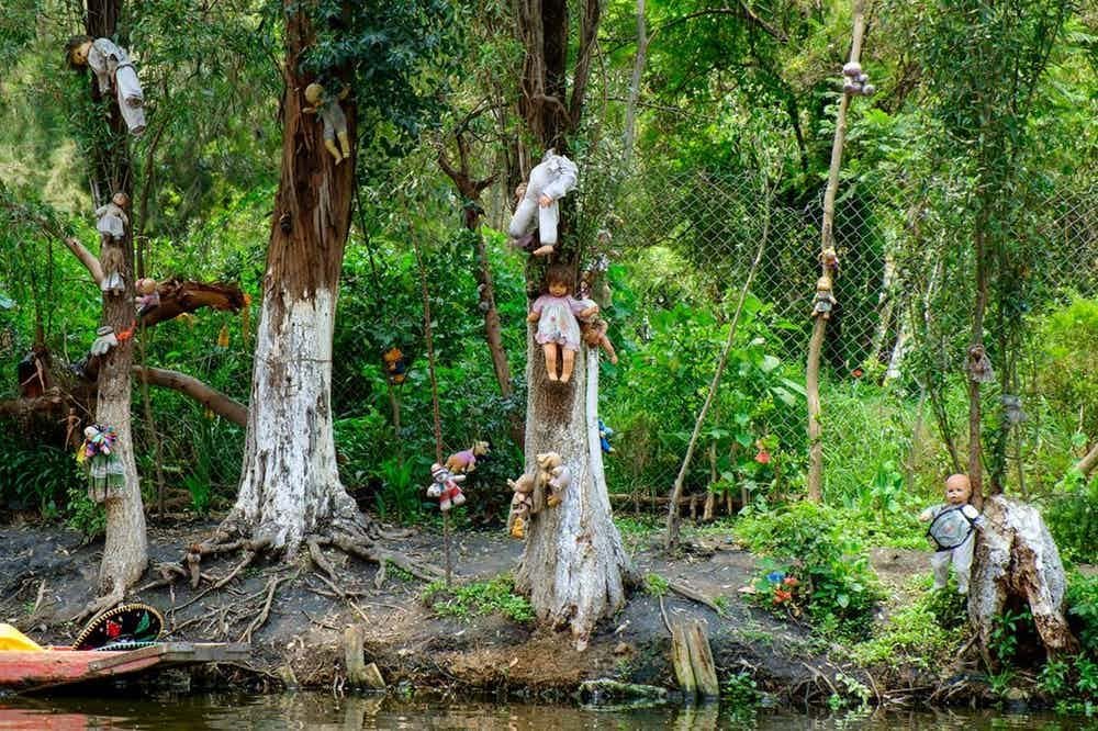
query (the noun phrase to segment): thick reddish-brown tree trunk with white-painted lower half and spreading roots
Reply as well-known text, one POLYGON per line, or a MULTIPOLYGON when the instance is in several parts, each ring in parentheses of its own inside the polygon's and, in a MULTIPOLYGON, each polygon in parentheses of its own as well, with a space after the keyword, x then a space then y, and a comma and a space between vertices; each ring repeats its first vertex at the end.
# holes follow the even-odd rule
MULTIPOLYGON (((365 516, 344 490, 332 429, 332 335, 350 228, 355 150, 336 164, 318 115, 303 114, 298 59, 311 41, 287 5, 282 173, 274 200, 240 492, 226 520, 292 553, 313 531, 357 533, 365 516), (324 529, 322 531, 322 529, 324 529)), ((355 108, 341 102, 348 137, 355 108)))

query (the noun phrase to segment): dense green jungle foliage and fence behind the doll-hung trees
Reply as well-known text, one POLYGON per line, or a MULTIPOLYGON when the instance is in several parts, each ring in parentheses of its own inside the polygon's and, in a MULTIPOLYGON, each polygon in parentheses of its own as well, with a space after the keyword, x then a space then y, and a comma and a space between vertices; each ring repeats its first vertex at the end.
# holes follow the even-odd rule
MULTIPOLYGON (((426 291, 446 449, 491 442, 458 521, 503 530, 506 479, 523 469, 515 437, 528 304, 526 255, 508 245, 506 224, 514 171, 528 171, 541 150, 524 139, 514 109, 523 56, 511 4, 413 4, 437 13, 432 43, 416 41, 423 29, 385 25, 361 40, 394 68, 430 63, 417 66, 421 103, 359 120, 332 356, 340 476, 383 520, 438 521, 424 494, 435 450, 426 291), (473 200, 447 170, 491 183, 473 200), (477 207, 485 224, 470 228, 477 207), (503 379, 485 338, 490 307, 503 379)), ((0 9, 0 510, 94 536, 102 517, 67 434, 71 417, 88 417, 79 363, 100 315, 100 292, 64 243, 97 238, 86 169, 96 140, 81 121, 101 110, 87 78, 63 64, 79 12, 66 2, 0 9)), ((149 116, 130 143, 138 267, 161 282, 239 288, 250 301, 139 331, 139 360, 243 404, 255 297, 279 225, 279 14, 247 0, 152 0, 130 3, 120 23, 149 116)), ((793 541, 818 528, 837 541, 923 548, 916 516, 941 502, 943 477, 965 469, 970 447, 981 238, 989 483, 1041 507, 1068 563, 1095 562, 1098 480, 1086 458, 1098 443, 1098 9, 878 0, 866 21, 862 64, 876 93, 850 104, 836 209, 826 507, 791 513, 806 490, 805 363, 850 9, 827 0, 603 8, 570 200, 619 358, 603 358, 601 382, 619 524, 665 511, 762 246, 684 511, 746 516, 754 522, 744 535, 760 546, 780 541, 775 530, 793 541)), ((227 509, 244 429, 177 389, 135 380, 133 403, 147 511, 175 520, 227 509)), ((821 559, 833 571, 837 551, 821 559)), ((1072 587, 1076 615, 1095 628, 1084 644, 1098 652, 1098 583, 1076 576, 1072 587)), ((841 621, 852 616, 845 603, 872 600, 867 591, 828 606, 841 621)))

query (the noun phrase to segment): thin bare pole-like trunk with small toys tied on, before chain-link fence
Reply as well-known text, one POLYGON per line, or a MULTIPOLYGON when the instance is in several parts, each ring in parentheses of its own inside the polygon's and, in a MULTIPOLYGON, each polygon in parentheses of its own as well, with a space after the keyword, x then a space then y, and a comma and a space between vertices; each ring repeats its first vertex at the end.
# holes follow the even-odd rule
MULTIPOLYGON (((862 13, 862 0, 853 0, 854 31, 850 44, 850 60, 858 61, 862 56, 862 36, 865 33, 865 18, 862 13)), ((842 167, 842 148, 847 139, 847 109, 851 95, 842 94, 839 101, 839 114, 834 124, 834 139, 831 143, 831 167, 828 170, 827 189, 824 192, 824 223, 820 226, 820 251, 834 247, 834 198, 839 190, 839 169, 842 167)), ((822 256, 820 257, 822 261, 822 256)), ((822 274, 828 274, 827 265, 821 265, 822 274)), ((805 368, 805 391, 808 401, 808 499, 820 503, 824 501, 824 436, 820 426, 819 370, 820 352, 824 349, 824 337, 827 335, 827 320, 822 315, 813 323, 813 336, 808 341, 808 363, 805 368)))

